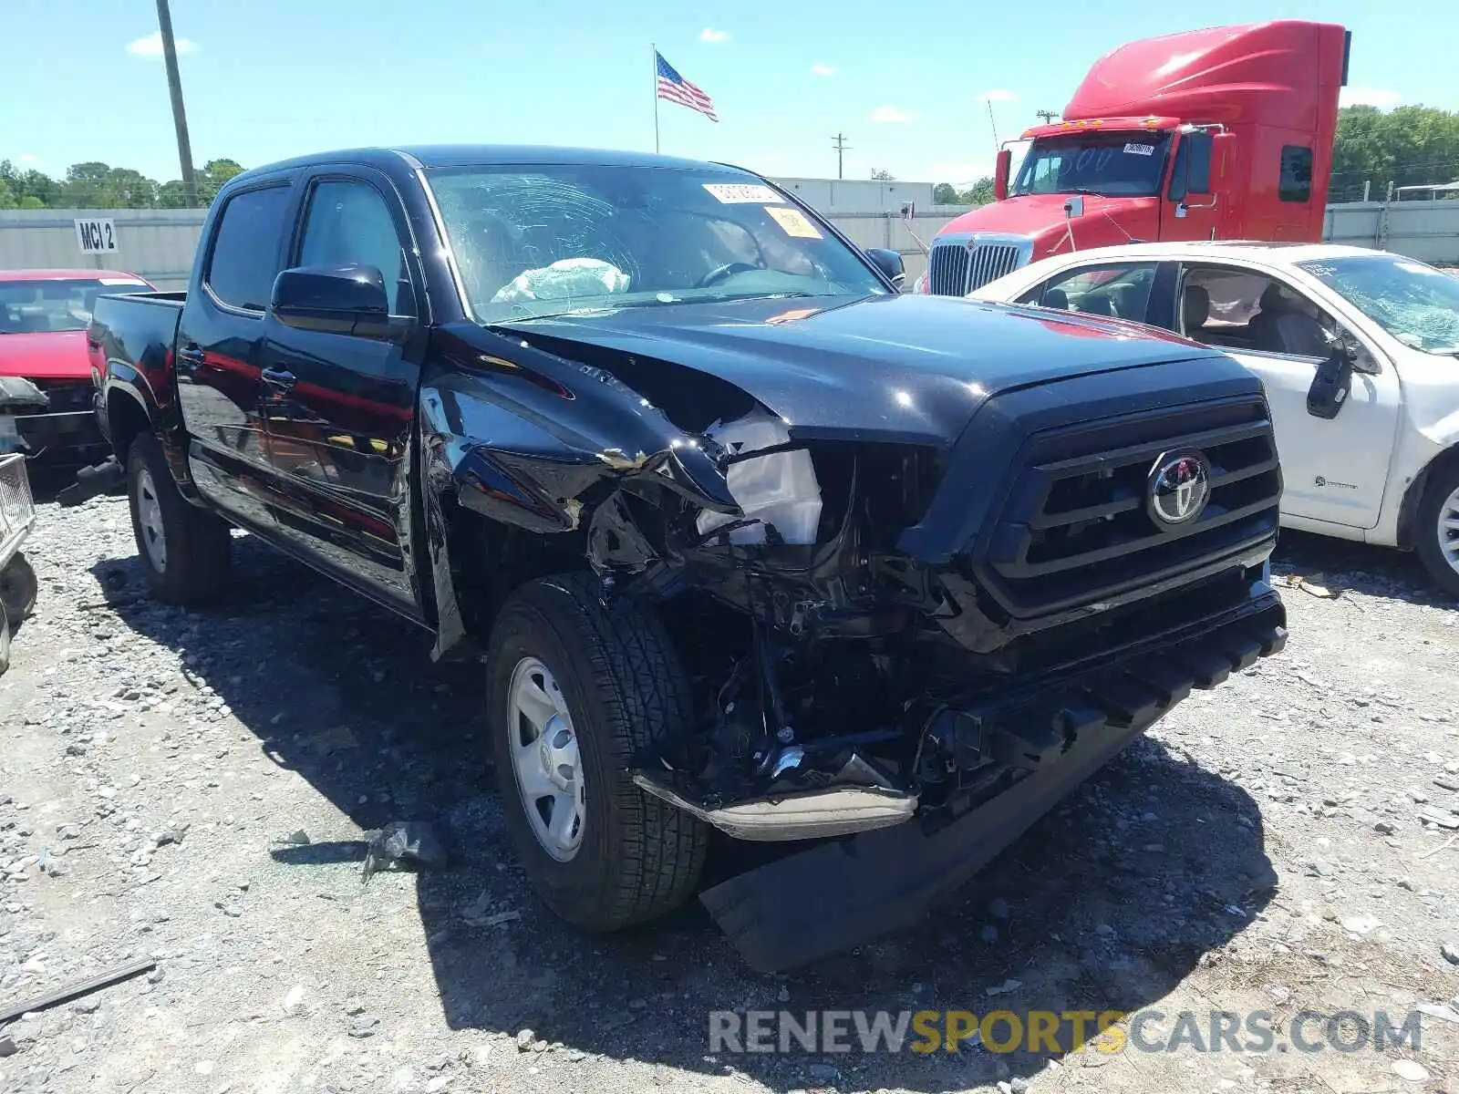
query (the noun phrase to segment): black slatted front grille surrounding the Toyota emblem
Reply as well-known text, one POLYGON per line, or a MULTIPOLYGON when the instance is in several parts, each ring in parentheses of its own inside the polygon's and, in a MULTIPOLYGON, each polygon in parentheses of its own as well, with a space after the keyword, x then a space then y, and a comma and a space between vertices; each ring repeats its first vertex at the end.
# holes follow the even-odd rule
POLYGON ((1266 404, 1237 400, 1034 436, 998 519, 986 579, 1017 616, 1099 601, 1236 559, 1277 534, 1281 470, 1266 404), (1161 454, 1196 449, 1210 500, 1188 525, 1148 513, 1161 454))

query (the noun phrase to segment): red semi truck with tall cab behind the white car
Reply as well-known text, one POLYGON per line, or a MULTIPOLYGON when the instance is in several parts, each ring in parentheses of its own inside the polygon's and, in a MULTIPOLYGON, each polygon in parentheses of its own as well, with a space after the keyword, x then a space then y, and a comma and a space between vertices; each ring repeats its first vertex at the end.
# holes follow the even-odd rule
POLYGON ((1129 42, 1064 121, 998 153, 995 201, 934 239, 918 292, 960 296, 1068 249, 1132 241, 1317 242, 1351 32, 1280 19, 1129 42))

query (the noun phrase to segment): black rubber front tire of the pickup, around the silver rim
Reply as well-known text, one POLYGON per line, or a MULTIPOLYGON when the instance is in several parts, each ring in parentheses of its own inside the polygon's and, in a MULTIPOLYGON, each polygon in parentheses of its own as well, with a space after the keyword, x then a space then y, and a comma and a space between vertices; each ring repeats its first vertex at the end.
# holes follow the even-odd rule
POLYGON ((703 871, 708 826, 645 794, 627 775, 643 745, 690 722, 690 686, 662 623, 605 610, 591 575, 543 578, 508 598, 487 653, 487 731, 512 842, 533 887, 562 919, 619 931, 687 900, 703 871), (533 830, 518 789, 508 716, 518 665, 549 667, 566 699, 581 756, 584 824, 560 861, 533 830))

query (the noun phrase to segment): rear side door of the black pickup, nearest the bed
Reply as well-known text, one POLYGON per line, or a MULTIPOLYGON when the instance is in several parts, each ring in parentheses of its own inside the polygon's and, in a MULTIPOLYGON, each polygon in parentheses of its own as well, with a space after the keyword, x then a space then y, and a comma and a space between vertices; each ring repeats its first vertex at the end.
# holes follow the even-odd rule
POLYGON ((178 404, 193 481, 239 524, 268 532, 260 417, 264 312, 289 238, 287 178, 228 197, 200 248, 177 335, 178 404))

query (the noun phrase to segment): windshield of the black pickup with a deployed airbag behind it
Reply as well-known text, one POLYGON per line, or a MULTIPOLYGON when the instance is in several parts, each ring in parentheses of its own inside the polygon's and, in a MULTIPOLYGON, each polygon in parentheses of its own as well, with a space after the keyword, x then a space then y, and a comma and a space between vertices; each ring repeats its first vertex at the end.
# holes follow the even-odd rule
POLYGON ((747 174, 514 166, 429 178, 483 322, 578 306, 887 292, 811 212, 747 174))

